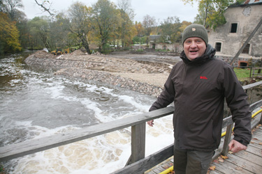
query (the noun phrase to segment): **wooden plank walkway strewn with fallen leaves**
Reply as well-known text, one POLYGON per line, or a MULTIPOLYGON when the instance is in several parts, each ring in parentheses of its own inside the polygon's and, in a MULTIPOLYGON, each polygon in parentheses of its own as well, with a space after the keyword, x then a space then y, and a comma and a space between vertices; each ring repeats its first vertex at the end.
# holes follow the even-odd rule
MULTIPOLYGON (((254 129, 252 141, 248 145, 247 150, 240 151, 235 154, 226 155, 227 159, 219 157, 215 159, 210 167, 214 171, 208 171, 209 174, 225 173, 262 173, 262 126, 254 129), (215 166, 215 167, 214 167, 215 166)), ((155 166, 145 174, 158 174, 173 166, 173 157, 170 157, 161 164, 155 166)))

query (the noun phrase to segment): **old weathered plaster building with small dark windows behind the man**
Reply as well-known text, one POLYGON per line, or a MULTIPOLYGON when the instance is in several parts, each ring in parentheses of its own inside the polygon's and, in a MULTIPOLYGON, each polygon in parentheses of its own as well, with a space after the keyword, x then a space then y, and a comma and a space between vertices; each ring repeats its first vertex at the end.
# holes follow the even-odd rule
MULTIPOLYGON (((249 35, 262 19, 262 0, 247 0, 241 5, 232 5, 224 13, 226 24, 210 30, 209 43, 217 49, 217 56, 231 61, 249 35)), ((248 65, 261 60, 262 57, 262 26, 256 31, 234 66, 248 65)))

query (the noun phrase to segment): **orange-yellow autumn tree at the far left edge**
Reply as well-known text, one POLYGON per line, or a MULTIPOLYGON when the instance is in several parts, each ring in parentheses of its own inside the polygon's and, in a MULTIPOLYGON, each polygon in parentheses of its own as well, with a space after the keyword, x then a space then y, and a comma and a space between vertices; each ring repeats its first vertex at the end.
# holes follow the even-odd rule
POLYGON ((22 50, 19 42, 19 32, 15 22, 0 12, 0 54, 22 50))

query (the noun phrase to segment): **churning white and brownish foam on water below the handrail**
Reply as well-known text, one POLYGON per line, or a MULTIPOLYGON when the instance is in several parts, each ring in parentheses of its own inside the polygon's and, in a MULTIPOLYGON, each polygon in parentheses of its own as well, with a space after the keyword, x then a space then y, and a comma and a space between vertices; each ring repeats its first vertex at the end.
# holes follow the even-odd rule
MULTIPOLYGON (((147 127, 146 156, 173 143, 172 116, 154 122, 154 127, 147 127)), ((59 131, 61 128, 48 132, 59 131)), ((124 129, 13 159, 17 166, 12 173, 112 173, 129 159, 130 139, 130 129, 124 129)))

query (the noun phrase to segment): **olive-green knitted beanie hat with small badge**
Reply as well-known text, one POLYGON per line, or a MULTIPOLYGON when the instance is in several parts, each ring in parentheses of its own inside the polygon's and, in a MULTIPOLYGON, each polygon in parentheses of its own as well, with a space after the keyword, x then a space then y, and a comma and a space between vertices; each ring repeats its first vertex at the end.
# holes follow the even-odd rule
POLYGON ((205 26, 200 24, 190 24, 187 26, 182 33, 182 45, 184 45, 184 40, 193 37, 203 39, 205 45, 208 45, 208 31, 205 29, 205 26))

